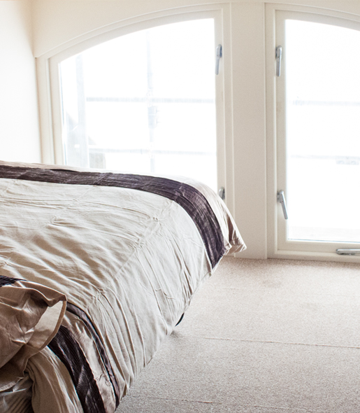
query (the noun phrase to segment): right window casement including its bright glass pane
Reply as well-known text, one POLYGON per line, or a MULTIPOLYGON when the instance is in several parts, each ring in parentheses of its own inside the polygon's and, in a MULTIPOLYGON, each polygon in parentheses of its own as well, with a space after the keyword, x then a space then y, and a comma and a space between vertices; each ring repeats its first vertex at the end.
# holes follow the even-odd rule
POLYGON ((360 25, 275 19, 275 255, 358 254, 360 25))

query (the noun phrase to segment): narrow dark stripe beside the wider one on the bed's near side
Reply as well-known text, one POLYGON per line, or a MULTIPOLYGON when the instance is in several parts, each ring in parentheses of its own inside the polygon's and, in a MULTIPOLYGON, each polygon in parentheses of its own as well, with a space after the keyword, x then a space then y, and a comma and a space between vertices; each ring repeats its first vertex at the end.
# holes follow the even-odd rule
POLYGON ((105 347, 103 346, 103 343, 101 342, 101 339, 99 337, 98 332, 94 328, 94 325, 92 321, 90 320, 89 316, 85 313, 85 311, 82 311, 79 307, 76 307, 75 304, 71 304, 68 302, 66 304, 66 311, 71 312, 71 314, 74 314, 75 316, 78 316, 80 320, 87 326, 89 329, 89 332, 92 335, 92 338, 94 339, 94 342, 96 344, 96 347, 99 351, 101 360, 103 360, 103 365, 106 368, 106 371, 108 372, 108 377, 110 379, 110 382, 113 386, 114 389, 114 394, 115 394, 115 402, 116 402, 116 407, 119 405, 120 402, 120 388, 119 385, 117 384, 117 381, 115 379, 115 374, 113 371, 113 367, 111 367, 110 360, 108 358, 108 355, 106 353, 105 347))

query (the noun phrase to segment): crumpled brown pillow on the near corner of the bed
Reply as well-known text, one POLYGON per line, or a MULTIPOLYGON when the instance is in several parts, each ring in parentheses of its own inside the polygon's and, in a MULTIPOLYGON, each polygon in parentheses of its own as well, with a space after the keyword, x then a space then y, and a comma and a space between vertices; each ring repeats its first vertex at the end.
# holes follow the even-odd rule
POLYGON ((27 360, 49 344, 65 310, 64 294, 0 275, 0 391, 24 377, 27 360))

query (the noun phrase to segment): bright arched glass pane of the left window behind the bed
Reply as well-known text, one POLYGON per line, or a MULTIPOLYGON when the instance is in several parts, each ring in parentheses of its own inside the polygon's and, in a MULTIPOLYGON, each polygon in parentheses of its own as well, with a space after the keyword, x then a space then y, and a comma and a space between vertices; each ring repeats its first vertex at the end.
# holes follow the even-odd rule
POLYGON ((137 31, 60 64, 66 164, 217 187, 213 19, 137 31))

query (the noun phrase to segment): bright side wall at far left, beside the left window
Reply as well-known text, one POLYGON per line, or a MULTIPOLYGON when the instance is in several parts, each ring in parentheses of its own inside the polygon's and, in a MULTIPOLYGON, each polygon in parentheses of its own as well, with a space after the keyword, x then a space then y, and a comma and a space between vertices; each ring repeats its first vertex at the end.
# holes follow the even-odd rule
POLYGON ((0 159, 40 162, 29 1, 0 1, 0 159))

